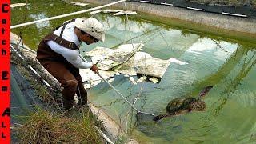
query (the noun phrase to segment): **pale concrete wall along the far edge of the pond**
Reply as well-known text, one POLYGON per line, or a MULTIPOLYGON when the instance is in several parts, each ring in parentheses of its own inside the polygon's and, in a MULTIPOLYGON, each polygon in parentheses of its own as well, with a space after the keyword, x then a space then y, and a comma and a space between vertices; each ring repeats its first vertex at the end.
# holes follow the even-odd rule
MULTIPOLYGON (((104 5, 113 0, 82 0, 96 5, 104 5)), ((124 3, 118 3, 113 8, 125 10, 124 3)), ((206 26, 213 26, 219 29, 233 30, 242 33, 256 34, 256 19, 242 18, 236 16, 207 13, 200 10, 188 10, 175 6, 157 5, 149 2, 126 2, 127 10, 136 10, 147 14, 166 18, 176 18, 188 22, 194 22, 206 26)))

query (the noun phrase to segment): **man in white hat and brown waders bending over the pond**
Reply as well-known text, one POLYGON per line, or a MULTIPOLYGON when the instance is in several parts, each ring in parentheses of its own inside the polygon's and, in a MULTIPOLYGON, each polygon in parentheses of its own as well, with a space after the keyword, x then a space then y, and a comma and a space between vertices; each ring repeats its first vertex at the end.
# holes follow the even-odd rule
POLYGON ((87 104, 87 92, 82 85, 79 69, 93 70, 98 67, 92 62, 82 62, 79 46, 102 41, 105 33, 101 22, 95 18, 76 18, 64 22, 53 33, 42 39, 37 50, 37 59, 42 66, 64 87, 62 91, 65 110, 71 110, 74 94, 78 95, 78 106, 87 104))

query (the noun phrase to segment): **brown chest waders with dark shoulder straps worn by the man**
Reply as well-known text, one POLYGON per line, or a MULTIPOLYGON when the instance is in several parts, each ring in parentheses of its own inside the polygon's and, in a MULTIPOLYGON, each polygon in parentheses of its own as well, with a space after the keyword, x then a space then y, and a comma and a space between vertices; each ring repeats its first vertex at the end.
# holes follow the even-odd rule
POLYGON ((74 67, 61 54, 54 52, 46 42, 54 41, 58 43, 58 45, 66 47, 67 49, 78 50, 79 48, 74 44, 74 42, 69 42, 62 38, 65 27, 70 22, 74 22, 74 19, 65 22, 62 25, 63 27, 60 36, 57 36, 54 33, 46 35, 46 37, 40 42, 37 50, 38 61, 51 75, 54 76, 54 78, 58 80, 58 82, 62 84, 62 87, 64 87, 62 90, 62 97, 65 110, 70 110, 70 108, 73 107, 74 94, 77 94, 78 98, 81 98, 79 103, 86 105, 87 92, 82 85, 82 78, 79 74, 79 69, 74 67))

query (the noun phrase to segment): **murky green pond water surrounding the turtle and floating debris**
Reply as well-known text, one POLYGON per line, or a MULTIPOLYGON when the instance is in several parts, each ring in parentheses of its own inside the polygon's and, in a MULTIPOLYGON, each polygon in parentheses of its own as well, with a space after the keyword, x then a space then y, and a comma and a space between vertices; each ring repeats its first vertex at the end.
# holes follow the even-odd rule
MULTIPOLYGON (((11 1, 23 2, 23 1, 11 1)), ((62 1, 28 1, 28 6, 11 9, 11 25, 49 18, 89 7, 71 6, 62 1)), ((134 85, 123 75, 112 84, 139 110, 165 114, 174 98, 197 97, 204 86, 214 88, 206 95, 207 110, 191 112, 160 122, 139 121, 135 112, 105 82, 90 90, 90 102, 106 111, 129 136, 140 143, 255 143, 256 142, 256 46, 255 35, 232 36, 226 30, 163 18, 139 17, 138 14, 114 17, 95 14, 106 28, 106 42, 83 45, 81 52, 95 46, 114 48, 122 43, 142 42, 144 52, 154 58, 177 58, 187 65, 171 63, 157 84, 134 85), (127 25, 126 25, 127 23, 127 25), (179 26, 180 24, 180 26, 179 26), (205 31, 203 31, 205 30, 205 31), (226 32, 225 32, 226 33, 226 32), (247 38, 246 38, 247 37, 247 38), (243 40, 243 39, 246 39, 243 40)), ((79 14, 74 17, 90 16, 79 14)), ((36 50, 41 38, 62 22, 61 18, 11 30, 22 32, 23 42, 36 50)), ((154 68, 152 68, 154 69, 154 68)), ((138 77, 134 77, 138 80, 138 77)))

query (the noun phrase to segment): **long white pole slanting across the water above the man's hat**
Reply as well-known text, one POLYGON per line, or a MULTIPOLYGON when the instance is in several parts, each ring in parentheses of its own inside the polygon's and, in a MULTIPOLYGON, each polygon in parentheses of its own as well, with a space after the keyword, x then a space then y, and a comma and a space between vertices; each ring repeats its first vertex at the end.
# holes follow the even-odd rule
POLYGON ((120 3, 120 2, 126 2, 126 0, 121 0, 121 1, 118 1, 118 2, 112 2, 112 3, 109 3, 109 4, 103 5, 103 6, 94 7, 94 8, 88 9, 88 10, 81 10, 81 11, 77 11, 77 12, 70 13, 70 14, 62 14, 62 15, 58 15, 58 16, 55 16, 55 17, 51 17, 51 18, 40 19, 40 20, 33 21, 33 22, 26 22, 26 23, 10 26, 10 29, 14 29, 14 28, 17 28, 17 27, 22 27, 22 26, 29 26, 29 25, 32 25, 34 23, 50 21, 50 20, 57 19, 57 18, 64 18, 64 17, 68 17, 68 16, 71 16, 71 15, 75 15, 75 14, 82 14, 82 13, 86 13, 86 12, 89 12, 89 11, 102 9, 104 7, 107 7, 107 6, 112 6, 112 5, 120 3))

